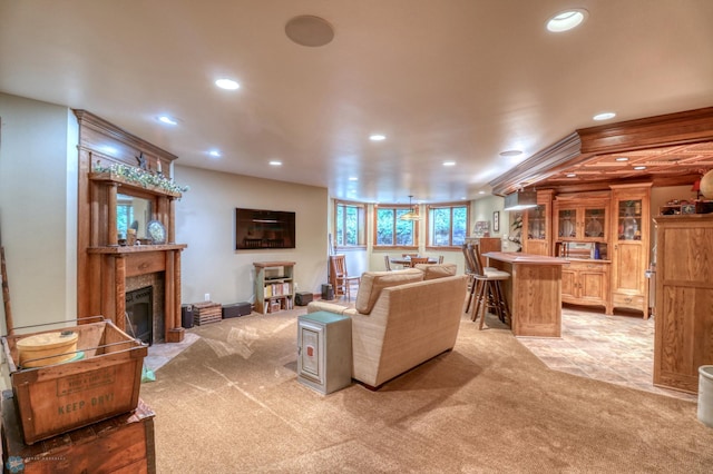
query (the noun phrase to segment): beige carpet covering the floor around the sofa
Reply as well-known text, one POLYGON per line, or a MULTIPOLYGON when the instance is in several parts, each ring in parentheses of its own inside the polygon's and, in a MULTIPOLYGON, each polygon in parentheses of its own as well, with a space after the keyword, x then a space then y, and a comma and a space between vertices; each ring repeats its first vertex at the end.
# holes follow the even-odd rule
POLYGON ((141 386, 159 473, 703 473, 696 404, 548 369, 506 328, 463 318, 456 348, 388 383, 296 381, 296 315, 196 327, 141 386))

